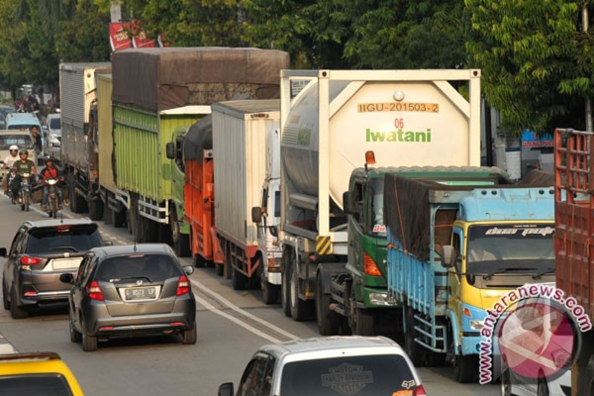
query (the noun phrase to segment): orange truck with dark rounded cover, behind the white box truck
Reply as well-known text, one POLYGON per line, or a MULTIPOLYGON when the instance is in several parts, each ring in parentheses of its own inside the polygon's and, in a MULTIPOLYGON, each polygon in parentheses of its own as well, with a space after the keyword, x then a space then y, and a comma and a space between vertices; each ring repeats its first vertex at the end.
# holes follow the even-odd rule
POLYGON ((196 267, 214 265, 223 275, 225 256, 214 228, 213 122, 210 115, 192 125, 184 137, 184 207, 196 267))

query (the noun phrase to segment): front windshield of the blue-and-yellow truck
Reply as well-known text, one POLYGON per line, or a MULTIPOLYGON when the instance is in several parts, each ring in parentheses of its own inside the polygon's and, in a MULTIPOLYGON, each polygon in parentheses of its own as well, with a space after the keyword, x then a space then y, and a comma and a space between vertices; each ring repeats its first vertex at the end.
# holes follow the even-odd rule
POLYGON ((555 268, 554 224, 471 226, 466 246, 467 271, 484 274, 532 273, 555 268))

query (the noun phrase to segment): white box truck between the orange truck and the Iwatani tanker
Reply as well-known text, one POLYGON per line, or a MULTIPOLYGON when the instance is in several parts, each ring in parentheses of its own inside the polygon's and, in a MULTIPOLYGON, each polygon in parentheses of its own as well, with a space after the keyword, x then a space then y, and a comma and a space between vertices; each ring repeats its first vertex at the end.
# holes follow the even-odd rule
POLYGON ((279 134, 280 102, 235 100, 215 103, 211 109, 214 226, 225 256, 223 273, 235 290, 259 287, 261 282, 264 293, 270 294, 265 299, 274 300, 280 289, 280 262, 274 260, 280 256, 275 233, 280 213, 267 198, 263 201, 262 186, 274 174, 267 147, 278 144, 271 136, 279 134), (260 213, 260 224, 252 221, 254 207, 268 207, 260 213))

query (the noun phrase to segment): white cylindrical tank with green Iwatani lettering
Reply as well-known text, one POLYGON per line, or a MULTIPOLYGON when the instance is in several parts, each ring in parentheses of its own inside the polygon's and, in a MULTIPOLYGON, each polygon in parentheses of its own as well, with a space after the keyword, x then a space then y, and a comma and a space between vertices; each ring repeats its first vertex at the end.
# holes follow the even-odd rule
MULTIPOLYGON (((458 107, 467 102, 451 86, 433 81, 359 85, 330 81, 330 103, 336 102, 330 110, 336 112, 330 113, 329 187, 338 207, 368 150, 374 151, 376 166, 478 166, 469 160, 469 118, 458 107)), ((287 116, 281 159, 298 192, 317 197, 317 83, 305 89, 287 116)))

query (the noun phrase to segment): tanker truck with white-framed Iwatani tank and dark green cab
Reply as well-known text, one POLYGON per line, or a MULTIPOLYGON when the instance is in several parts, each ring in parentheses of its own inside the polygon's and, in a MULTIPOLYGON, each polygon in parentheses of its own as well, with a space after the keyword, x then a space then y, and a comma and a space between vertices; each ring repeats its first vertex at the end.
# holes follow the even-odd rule
POLYGON ((347 324, 372 334, 379 313, 397 309, 386 298, 386 227, 373 210, 383 207, 381 171, 479 166, 480 79, 478 69, 282 71, 281 300, 287 316, 309 319, 317 309, 322 334, 340 324, 343 332, 347 324), (304 78, 311 81, 292 98, 291 81, 304 78), (454 88, 462 84, 469 100, 454 88), (372 168, 381 180, 371 180, 372 168), (345 192, 355 200, 349 214, 345 192))

